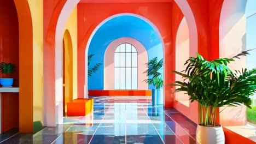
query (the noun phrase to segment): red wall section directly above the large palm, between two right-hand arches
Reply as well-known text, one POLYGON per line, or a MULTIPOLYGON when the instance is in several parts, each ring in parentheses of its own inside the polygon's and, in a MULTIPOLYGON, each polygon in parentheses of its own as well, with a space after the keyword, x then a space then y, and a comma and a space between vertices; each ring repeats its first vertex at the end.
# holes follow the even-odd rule
MULTIPOLYGON (((224 0, 187 1, 195 17, 198 35, 198 52, 208 61, 219 58, 219 20, 224 0)), ((199 111, 196 108, 194 107, 193 111, 199 111)), ((193 111, 191 112, 193 113, 193 111)), ((216 123, 219 123, 218 114, 216 123)))

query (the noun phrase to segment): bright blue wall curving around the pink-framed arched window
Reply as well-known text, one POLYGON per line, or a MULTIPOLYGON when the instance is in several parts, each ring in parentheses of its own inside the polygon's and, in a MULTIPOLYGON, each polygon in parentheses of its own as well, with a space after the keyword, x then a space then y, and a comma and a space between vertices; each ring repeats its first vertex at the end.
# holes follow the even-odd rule
MULTIPOLYGON (((88 79, 89 89, 104 89, 104 52, 112 41, 130 37, 138 40, 148 51, 148 58, 162 58, 162 45, 154 29, 134 16, 118 16, 104 23, 91 40, 88 55, 94 54, 89 68, 102 63, 100 69, 88 79), (90 67, 91 66, 91 67, 90 67)), ((152 89, 153 86, 149 86, 152 89)))

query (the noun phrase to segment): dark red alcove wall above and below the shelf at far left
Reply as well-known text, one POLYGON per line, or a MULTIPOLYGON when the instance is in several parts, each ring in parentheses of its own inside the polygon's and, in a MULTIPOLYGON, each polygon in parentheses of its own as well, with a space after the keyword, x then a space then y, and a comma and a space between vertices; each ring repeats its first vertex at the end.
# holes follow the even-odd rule
MULTIPOLYGON (((16 65, 16 72, 0 77, 13 77, 19 87, 19 22, 13 1, 0 1, 0 62, 16 65)), ((19 127, 19 93, 2 93, 2 132, 19 127)))

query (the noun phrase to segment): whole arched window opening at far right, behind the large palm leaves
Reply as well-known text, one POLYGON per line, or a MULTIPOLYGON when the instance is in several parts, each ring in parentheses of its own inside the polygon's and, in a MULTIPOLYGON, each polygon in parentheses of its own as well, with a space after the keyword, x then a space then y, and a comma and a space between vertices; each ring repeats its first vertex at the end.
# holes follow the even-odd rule
MULTIPOLYGON (((255 45, 255 1, 224 1, 219 22, 219 57, 232 57, 241 51, 254 49, 255 45), (232 7, 232 9, 230 9, 232 7)), ((250 55, 240 57, 228 65, 231 70, 255 68, 256 51, 249 51, 250 55)), ((254 96, 255 97, 255 96, 254 96)), ((254 98, 252 97, 252 98, 254 98)), ((248 139, 255 136, 255 126, 248 124, 248 109, 245 105, 236 107, 220 107, 220 124, 248 139), (242 130, 238 127, 244 127, 242 130)), ((255 116, 255 111, 250 111, 255 116)), ((249 113, 250 113, 249 112, 249 113)), ((250 116, 249 116, 250 117, 250 116)), ((252 118, 252 117, 251 117, 252 118)), ((253 121, 251 121, 253 122, 253 121)))

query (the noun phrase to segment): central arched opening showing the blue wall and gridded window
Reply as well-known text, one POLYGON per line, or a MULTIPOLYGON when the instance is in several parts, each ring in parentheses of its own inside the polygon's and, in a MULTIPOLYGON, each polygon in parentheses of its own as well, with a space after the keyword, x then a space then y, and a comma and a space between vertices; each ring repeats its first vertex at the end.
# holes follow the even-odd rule
MULTIPOLYGON (((100 25, 96 27, 96 29, 94 29, 94 32, 92 32, 88 44, 86 45, 85 58, 90 55, 94 55, 94 64, 104 63, 104 67, 100 67, 99 70, 96 72, 95 76, 88 77, 89 89, 115 90, 117 89, 115 88, 115 84, 117 84, 117 82, 115 83, 115 79, 119 77, 120 82, 121 77, 127 78, 127 76, 129 77, 132 75, 136 75, 137 80, 136 82, 133 81, 136 83, 136 85, 133 85, 136 88, 126 88, 126 84, 130 85, 131 83, 129 83, 129 81, 124 81, 124 87, 119 87, 119 89, 148 90, 155 88, 153 85, 148 85, 146 82, 144 82, 144 80, 147 79, 147 74, 143 74, 143 72, 147 70, 146 63, 150 59, 158 57, 158 59, 160 60, 164 57, 163 45, 164 44, 162 42, 162 37, 158 29, 153 25, 152 22, 147 20, 145 17, 135 14, 117 14, 108 17, 106 20, 101 22, 100 25), (135 25, 135 23, 137 23, 138 25, 135 25), (124 29, 124 27, 126 29, 124 29), (126 53, 126 51, 119 51, 118 53, 115 53, 115 50, 118 49, 118 46, 125 46, 124 44, 131 44, 130 48, 132 48, 133 46, 136 47, 136 50, 138 50, 136 57, 137 59, 134 59, 137 61, 137 68, 132 68, 133 66, 131 66, 131 68, 126 68, 126 65, 129 65, 129 61, 126 60, 130 57, 130 55, 131 57, 132 55, 135 57, 135 53, 126 53), (119 66, 115 65, 117 64, 117 58, 115 58, 115 55, 118 54, 120 55, 119 60, 124 60, 119 61, 120 64, 124 64, 122 66, 123 68, 118 68, 120 67, 120 64, 119 66), (125 69, 129 70, 126 71, 125 69), (130 69, 131 73, 129 72, 130 69), (135 71, 132 72, 132 69, 137 69, 137 73, 135 74, 135 71), (123 70, 124 73, 120 73, 121 70, 123 70), (117 73, 117 71, 119 71, 119 73, 117 73), (118 74, 124 75, 122 76, 118 74)), ((85 61, 88 60, 85 59, 85 61)), ((90 68, 91 67, 89 66, 87 70, 90 68)), ((163 69, 160 70, 160 73, 162 74, 162 76, 164 76, 163 69)), ((144 94, 146 94, 146 92, 144 94)))

